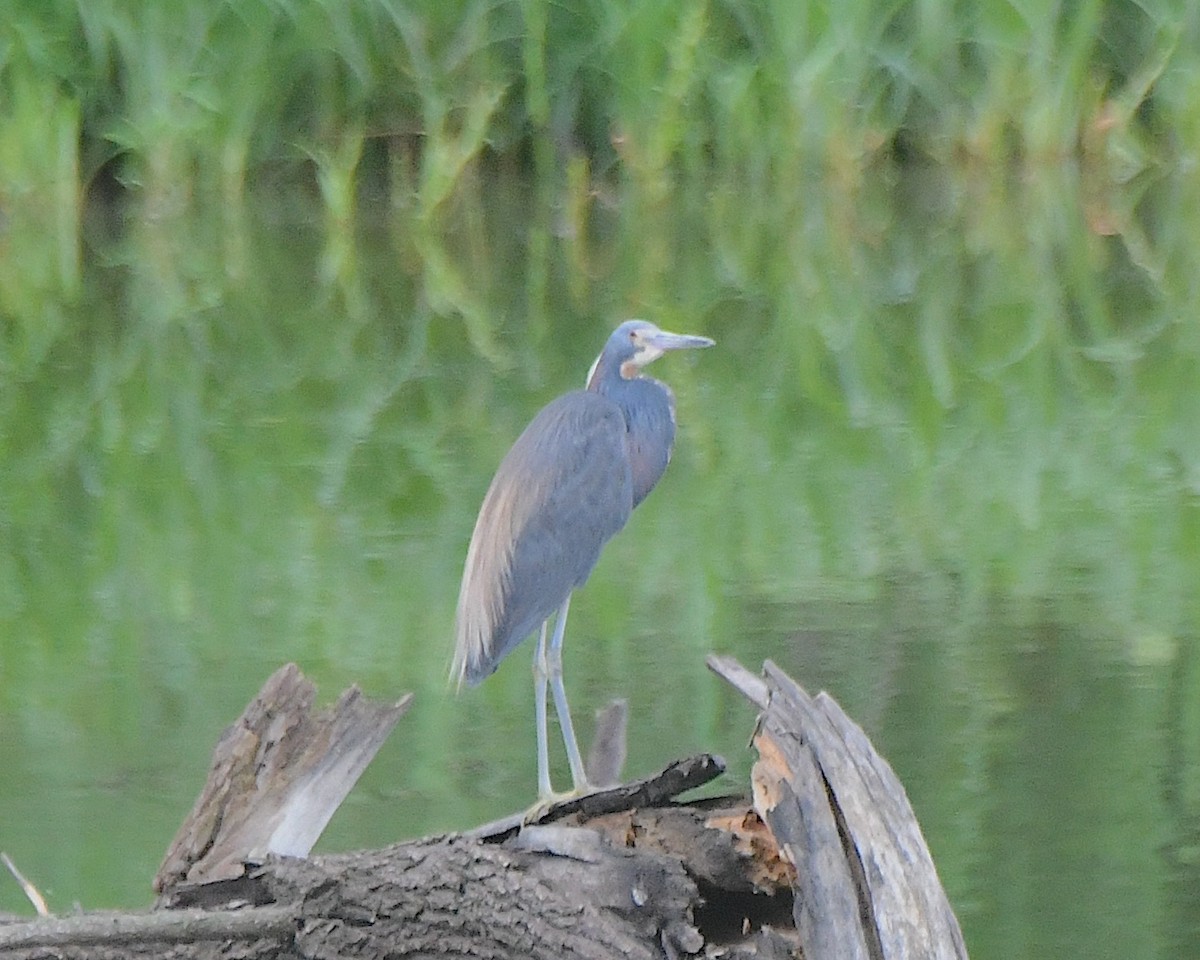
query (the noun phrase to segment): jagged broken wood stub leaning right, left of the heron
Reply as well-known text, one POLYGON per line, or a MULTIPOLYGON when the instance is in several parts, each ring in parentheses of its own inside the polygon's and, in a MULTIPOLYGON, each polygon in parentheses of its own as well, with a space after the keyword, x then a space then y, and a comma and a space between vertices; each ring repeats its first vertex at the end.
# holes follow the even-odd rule
POLYGON ((320 713, 314 698, 288 664, 221 734, 208 782, 158 868, 157 893, 239 876, 269 853, 306 856, 412 695, 377 703, 352 686, 320 713))

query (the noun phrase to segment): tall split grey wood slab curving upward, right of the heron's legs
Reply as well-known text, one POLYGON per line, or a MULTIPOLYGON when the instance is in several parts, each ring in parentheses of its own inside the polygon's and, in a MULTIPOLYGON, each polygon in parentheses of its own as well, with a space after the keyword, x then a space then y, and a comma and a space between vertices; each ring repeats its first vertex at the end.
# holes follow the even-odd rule
MULTIPOLYGON (((718 673, 762 706, 730 661, 718 673)), ((734 665, 736 666, 736 665, 734 665)), ((767 662, 754 805, 796 866, 806 960, 966 958, 958 920, 895 773, 827 694, 767 662)))

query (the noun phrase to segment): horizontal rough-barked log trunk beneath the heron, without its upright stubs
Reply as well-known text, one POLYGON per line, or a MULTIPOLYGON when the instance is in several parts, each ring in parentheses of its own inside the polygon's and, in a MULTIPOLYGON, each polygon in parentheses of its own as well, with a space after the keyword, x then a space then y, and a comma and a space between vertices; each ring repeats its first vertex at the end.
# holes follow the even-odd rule
POLYGON ((731 901, 722 923, 746 947, 764 917, 780 923, 791 908, 787 880, 761 886, 766 874, 720 826, 754 816, 744 800, 714 800, 529 827, 503 844, 446 836, 271 857, 234 880, 176 887, 172 910, 0 926, 0 956, 686 956, 710 942, 696 913, 715 925, 727 888, 760 894, 731 901))

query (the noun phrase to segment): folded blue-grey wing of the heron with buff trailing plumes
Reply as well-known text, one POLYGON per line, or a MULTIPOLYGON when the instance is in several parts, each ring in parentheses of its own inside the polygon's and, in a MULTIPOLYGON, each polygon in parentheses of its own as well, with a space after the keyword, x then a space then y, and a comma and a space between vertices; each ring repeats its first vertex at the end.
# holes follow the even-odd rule
POLYGON ((478 683, 558 610, 629 520, 625 420, 583 390, 547 404, 504 457, 475 522, 454 676, 478 683))

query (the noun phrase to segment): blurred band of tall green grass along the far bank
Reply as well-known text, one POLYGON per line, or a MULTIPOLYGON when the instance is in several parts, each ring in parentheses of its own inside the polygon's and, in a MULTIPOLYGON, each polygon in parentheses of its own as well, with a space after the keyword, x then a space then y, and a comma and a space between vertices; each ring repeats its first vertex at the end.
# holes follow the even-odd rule
POLYGON ((7 7, 4 138, 35 137, 31 104, 49 96, 78 115, 83 157, 55 179, 78 191, 103 168, 151 211, 236 203, 263 179, 313 182, 313 158, 347 136, 378 143, 367 174, 412 152, 419 175, 402 188, 433 214, 484 152, 563 190, 570 157, 598 175, 619 161, 653 209, 680 168, 786 188, 797 169, 853 178, 898 148, 1145 163, 1198 128, 1187 0, 7 7))

